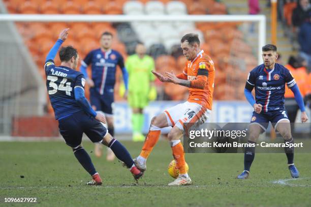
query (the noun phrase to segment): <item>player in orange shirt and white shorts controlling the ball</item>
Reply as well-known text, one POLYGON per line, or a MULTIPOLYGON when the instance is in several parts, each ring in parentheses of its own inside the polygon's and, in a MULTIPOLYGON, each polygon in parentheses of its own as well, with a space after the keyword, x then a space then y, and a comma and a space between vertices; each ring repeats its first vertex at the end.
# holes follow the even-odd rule
POLYGON ((183 73, 175 75, 165 72, 166 76, 152 72, 162 82, 189 87, 189 98, 152 118, 140 155, 134 159, 136 166, 146 170, 146 160, 153 146, 157 143, 161 128, 171 126, 168 139, 179 170, 179 175, 169 186, 190 185, 192 183, 186 167, 183 146, 180 138, 183 135, 183 123, 200 125, 205 123, 212 109, 212 94, 215 69, 211 58, 200 49, 200 40, 196 34, 186 34, 181 38, 181 48, 187 62, 183 73))

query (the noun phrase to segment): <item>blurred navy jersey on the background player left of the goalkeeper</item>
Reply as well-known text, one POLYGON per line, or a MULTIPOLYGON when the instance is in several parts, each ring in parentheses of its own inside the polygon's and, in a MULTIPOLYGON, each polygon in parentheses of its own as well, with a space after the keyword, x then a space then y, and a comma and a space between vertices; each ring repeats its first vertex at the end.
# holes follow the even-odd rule
POLYGON ((103 95, 113 93, 116 66, 124 67, 122 55, 115 50, 104 52, 101 48, 90 51, 81 64, 87 67, 91 64, 92 80, 96 90, 103 95))

